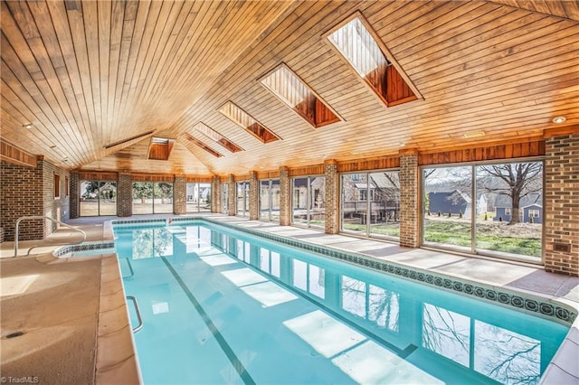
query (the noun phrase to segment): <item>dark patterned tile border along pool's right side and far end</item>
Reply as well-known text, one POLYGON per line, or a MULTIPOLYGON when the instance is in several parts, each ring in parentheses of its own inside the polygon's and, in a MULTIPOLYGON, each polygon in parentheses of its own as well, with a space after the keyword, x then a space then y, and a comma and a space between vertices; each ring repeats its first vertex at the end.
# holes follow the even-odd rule
MULTIPOLYGON (((569 325, 573 324, 575 318, 577 317, 576 309, 574 309, 571 306, 546 302, 544 299, 540 297, 532 297, 527 295, 523 296, 521 293, 496 289, 492 286, 484 286, 479 283, 460 281, 454 277, 445 277, 443 275, 433 274, 431 271, 428 270, 421 270, 418 268, 408 268, 390 261, 384 261, 382 259, 375 259, 369 256, 365 256, 364 254, 332 249, 327 246, 320 246, 313 243, 308 243, 301 239, 281 237, 280 235, 264 232, 262 230, 246 228, 238 226, 233 223, 228 223, 226 221, 216 221, 206 217, 179 217, 173 218, 170 222, 176 221, 179 222, 206 221, 218 226, 223 226, 225 228, 242 231, 262 239, 273 240, 275 242, 279 242, 284 245, 289 245, 298 249, 308 250, 310 252, 315 252, 331 258, 337 258, 345 262, 356 264, 358 266, 363 266, 365 268, 372 268, 375 270, 382 271, 384 273, 392 274, 407 279, 412 279, 413 281, 421 282, 422 284, 426 284, 429 286, 435 286, 452 292, 457 292, 460 293, 461 295, 474 296, 480 300, 495 302, 499 305, 514 307, 519 311, 522 310, 531 314, 536 313, 539 315, 544 315, 546 317, 555 318, 559 322, 563 322, 569 325)), ((129 223, 130 221, 123 221, 123 222, 129 223)), ((154 221, 148 222, 151 223, 154 221)), ((113 221, 113 224, 116 224, 116 221, 113 221)), ((122 229, 126 229, 126 227, 122 227, 122 229)))

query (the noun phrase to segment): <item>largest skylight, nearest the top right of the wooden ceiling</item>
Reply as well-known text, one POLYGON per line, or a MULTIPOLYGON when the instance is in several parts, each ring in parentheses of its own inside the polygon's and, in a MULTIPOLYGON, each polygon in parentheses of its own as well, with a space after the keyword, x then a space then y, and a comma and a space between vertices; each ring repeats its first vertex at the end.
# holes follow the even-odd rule
POLYGON ((404 78, 396 70, 393 65, 394 58, 392 55, 389 55, 390 60, 386 57, 384 52, 387 52, 387 49, 382 42, 379 44, 376 41, 375 36, 369 24, 359 14, 327 35, 327 40, 386 106, 418 99, 417 89, 407 77, 404 78))

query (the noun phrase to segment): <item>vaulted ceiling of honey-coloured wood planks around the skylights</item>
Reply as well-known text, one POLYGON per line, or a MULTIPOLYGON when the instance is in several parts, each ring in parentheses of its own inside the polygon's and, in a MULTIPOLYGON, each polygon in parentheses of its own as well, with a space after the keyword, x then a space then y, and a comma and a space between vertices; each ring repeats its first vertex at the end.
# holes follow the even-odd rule
POLYGON ((579 125, 576 1, 1 5, 1 139, 67 169, 247 174, 579 125), (386 108, 327 42, 356 12, 422 99, 386 108), (313 128, 266 89, 280 63, 343 120, 313 128), (223 116, 228 101, 281 140, 263 144, 223 116), (151 136, 176 139, 168 160, 147 159, 151 136))

